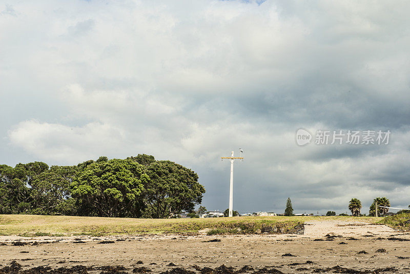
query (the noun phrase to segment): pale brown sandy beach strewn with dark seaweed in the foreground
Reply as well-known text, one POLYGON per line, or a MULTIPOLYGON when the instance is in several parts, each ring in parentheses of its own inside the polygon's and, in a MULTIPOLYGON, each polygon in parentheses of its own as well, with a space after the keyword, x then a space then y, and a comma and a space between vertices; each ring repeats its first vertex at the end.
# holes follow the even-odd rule
POLYGON ((303 235, 3 236, 1 243, 5 245, 0 246, 0 268, 15 260, 22 269, 44 266, 49 272, 83 265, 94 267, 89 273, 100 273, 98 267, 121 265, 125 272, 144 272, 139 268, 144 266, 170 274, 182 274, 181 268, 192 273, 240 273, 243 266, 249 267, 242 272, 249 273, 410 273, 409 233, 352 221, 308 222, 303 235), (221 265, 233 269, 215 269, 221 265))

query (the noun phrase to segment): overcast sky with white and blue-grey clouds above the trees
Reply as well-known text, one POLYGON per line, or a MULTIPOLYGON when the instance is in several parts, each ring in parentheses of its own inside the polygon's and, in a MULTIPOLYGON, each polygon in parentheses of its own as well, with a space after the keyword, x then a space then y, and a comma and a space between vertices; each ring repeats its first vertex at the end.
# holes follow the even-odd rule
POLYGON ((376 197, 407 208, 408 10, 408 1, 0 0, 0 163, 151 154, 196 171, 202 205, 223 211, 230 163, 220 157, 241 148, 234 210, 283 213, 288 197, 294 213, 345 213, 352 198, 362 213, 376 197), (298 129, 310 143, 298 144, 298 129), (340 130, 342 144, 331 144, 340 130), (374 144, 362 144, 366 131, 374 144), (390 132, 380 144, 379 131, 390 132))

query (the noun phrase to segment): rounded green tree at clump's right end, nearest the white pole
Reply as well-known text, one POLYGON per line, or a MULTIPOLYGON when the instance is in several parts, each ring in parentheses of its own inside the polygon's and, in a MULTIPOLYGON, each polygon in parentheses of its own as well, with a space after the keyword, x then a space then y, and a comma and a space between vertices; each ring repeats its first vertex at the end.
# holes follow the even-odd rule
POLYGON ((172 218, 182 210, 191 212, 200 204, 205 188, 198 175, 171 161, 155 161, 146 167, 150 178, 146 185, 145 217, 172 218))

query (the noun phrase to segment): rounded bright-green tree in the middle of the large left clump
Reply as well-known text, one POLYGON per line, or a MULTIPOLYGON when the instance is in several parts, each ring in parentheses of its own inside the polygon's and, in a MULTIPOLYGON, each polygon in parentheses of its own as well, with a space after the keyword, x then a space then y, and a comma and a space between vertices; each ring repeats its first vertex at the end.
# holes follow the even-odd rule
POLYGON ((100 217, 137 215, 135 208, 149 177, 130 160, 93 162, 71 184, 73 198, 95 210, 100 217))

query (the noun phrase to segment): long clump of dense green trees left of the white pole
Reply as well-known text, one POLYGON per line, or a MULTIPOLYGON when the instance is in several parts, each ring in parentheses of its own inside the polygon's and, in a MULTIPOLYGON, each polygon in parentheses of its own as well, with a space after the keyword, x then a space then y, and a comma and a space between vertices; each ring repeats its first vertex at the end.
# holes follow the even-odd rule
POLYGON ((204 192, 191 169, 146 154, 77 166, 0 165, 0 214, 172 218, 192 211, 204 192))

